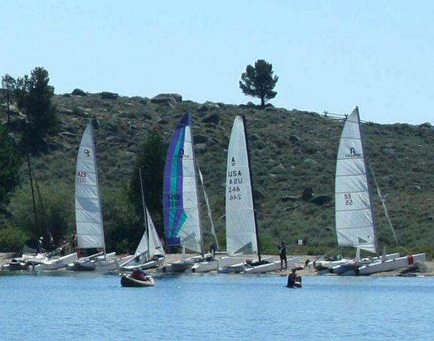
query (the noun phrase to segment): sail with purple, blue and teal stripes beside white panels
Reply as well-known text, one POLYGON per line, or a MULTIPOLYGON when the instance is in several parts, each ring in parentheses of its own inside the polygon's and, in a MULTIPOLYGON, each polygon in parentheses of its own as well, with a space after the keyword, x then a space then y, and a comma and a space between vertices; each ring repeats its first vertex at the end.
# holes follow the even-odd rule
POLYGON ((169 144, 162 191, 166 245, 201 252, 197 176, 188 113, 177 124, 169 144))

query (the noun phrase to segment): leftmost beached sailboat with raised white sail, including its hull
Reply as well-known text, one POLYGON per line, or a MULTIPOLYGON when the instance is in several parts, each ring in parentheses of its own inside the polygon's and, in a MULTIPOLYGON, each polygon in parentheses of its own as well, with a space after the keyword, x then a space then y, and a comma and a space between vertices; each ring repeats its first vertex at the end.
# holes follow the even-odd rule
POLYGON ((67 266, 75 271, 111 271, 117 269, 115 252, 106 253, 103 217, 95 158, 92 122, 88 122, 78 149, 75 185, 76 235, 78 249, 98 249, 98 253, 80 258, 67 266))

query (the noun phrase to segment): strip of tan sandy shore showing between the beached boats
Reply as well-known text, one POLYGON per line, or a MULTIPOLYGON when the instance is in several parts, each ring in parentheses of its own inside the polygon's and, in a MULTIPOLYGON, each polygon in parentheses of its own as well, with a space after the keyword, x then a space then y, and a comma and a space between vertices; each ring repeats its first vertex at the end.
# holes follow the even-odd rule
MULTIPOLYGON (((12 252, 3 252, 0 253, 0 267, 3 264, 7 264, 10 262, 12 255, 14 253, 12 252)), ((189 257, 189 256, 194 256, 194 255, 190 255, 190 254, 186 254, 185 256, 189 257)), ((222 255, 218 255, 218 256, 222 256, 222 255)), ((269 255, 263 255, 263 257, 267 257, 269 255)), ((275 260, 278 260, 278 256, 272 256, 275 260)), ((303 267, 303 269, 299 269, 297 270, 297 274, 299 274, 300 276, 306 276, 306 275, 316 275, 315 269, 313 269, 312 265, 306 267, 305 263, 306 260, 310 260, 311 262, 313 262, 314 260, 316 260, 316 256, 307 256, 307 255, 303 255, 303 256, 296 256, 299 258, 299 265, 301 267, 303 267)), ((288 256, 288 259, 291 258, 291 256, 288 256)), ((169 264, 169 263, 174 263, 178 260, 182 259, 182 255, 181 253, 168 253, 166 260, 165 260, 165 264, 169 264)), ((433 260, 427 260, 426 262, 422 263, 422 264, 417 264, 417 269, 412 269, 412 271, 407 272, 406 276, 434 276, 434 261, 433 260)), ((268 274, 276 274, 276 275, 280 275, 280 276, 286 276, 287 274, 290 273, 291 269, 286 269, 283 271, 277 271, 277 272, 268 272, 268 274)), ((378 274, 372 274, 370 276, 399 276, 401 275, 401 270, 396 270, 396 271, 391 271, 391 272, 381 272, 378 274)), ((153 272, 153 270, 148 270, 148 272, 153 272)))

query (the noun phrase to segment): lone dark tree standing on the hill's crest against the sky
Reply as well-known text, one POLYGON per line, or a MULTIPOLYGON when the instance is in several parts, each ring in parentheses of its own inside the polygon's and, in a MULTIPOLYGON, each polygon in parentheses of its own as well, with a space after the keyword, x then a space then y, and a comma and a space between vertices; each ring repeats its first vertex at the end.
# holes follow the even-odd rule
POLYGON ((248 96, 260 98, 261 108, 265 102, 276 97, 273 91, 278 81, 278 76, 273 76, 273 65, 265 60, 258 59, 255 66, 247 65, 246 72, 241 75, 240 88, 248 96))

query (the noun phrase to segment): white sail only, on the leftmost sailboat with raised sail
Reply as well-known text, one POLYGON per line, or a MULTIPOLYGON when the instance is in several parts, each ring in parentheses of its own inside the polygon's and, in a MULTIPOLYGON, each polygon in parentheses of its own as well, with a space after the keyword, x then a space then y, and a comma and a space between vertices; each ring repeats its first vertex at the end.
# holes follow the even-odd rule
POLYGON ((76 231, 80 249, 105 249, 97 162, 92 123, 87 123, 78 149, 76 166, 76 231))

